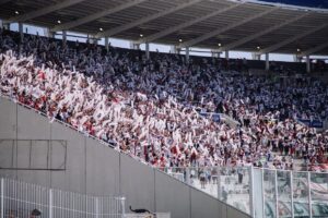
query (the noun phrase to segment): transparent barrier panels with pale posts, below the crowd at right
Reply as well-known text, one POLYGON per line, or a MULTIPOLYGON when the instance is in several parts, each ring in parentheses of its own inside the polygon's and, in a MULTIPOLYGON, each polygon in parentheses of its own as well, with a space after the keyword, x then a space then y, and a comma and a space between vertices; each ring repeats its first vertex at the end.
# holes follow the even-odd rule
POLYGON ((159 168, 255 218, 327 218, 328 173, 259 168, 159 168))

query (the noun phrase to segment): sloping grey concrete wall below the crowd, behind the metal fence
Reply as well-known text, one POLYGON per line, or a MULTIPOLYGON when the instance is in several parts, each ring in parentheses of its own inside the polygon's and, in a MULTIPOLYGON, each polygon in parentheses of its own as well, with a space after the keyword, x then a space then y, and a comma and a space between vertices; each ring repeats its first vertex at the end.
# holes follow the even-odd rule
POLYGON ((173 218, 249 217, 164 172, 0 97, 0 168, 4 167, 13 169, 0 169, 0 177, 65 191, 125 196, 127 211, 132 205, 171 213, 173 218), (46 141, 35 142, 30 149, 30 140, 46 141), (67 142, 67 147, 55 140, 67 142), (15 169, 56 169, 65 158, 65 170, 15 169))

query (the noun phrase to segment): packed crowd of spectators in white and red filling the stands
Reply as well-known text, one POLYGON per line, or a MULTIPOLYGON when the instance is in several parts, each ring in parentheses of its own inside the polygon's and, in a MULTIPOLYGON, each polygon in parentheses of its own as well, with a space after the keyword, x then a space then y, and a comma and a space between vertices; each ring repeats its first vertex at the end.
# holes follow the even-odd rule
MULTIPOLYGON (((246 63, 239 70, 247 69, 246 63)), ((93 44, 0 35, 0 94, 156 167, 327 164, 328 134, 298 119, 328 118, 328 89, 227 70, 224 60, 147 60, 93 44), (226 113, 236 128, 200 112, 226 113)))

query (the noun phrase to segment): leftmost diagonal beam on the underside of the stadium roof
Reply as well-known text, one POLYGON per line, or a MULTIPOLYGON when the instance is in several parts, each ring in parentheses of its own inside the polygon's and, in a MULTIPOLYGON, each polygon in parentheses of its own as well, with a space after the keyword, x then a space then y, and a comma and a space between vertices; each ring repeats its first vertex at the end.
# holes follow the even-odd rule
POLYGON ((19 15, 19 16, 10 17, 8 20, 8 22, 9 23, 25 22, 27 20, 32 20, 32 19, 38 17, 38 16, 51 13, 54 11, 58 11, 60 9, 65 9, 65 8, 68 8, 70 5, 80 3, 82 1, 84 1, 84 0, 66 0, 66 1, 61 1, 60 3, 57 3, 57 4, 51 4, 51 5, 45 7, 43 9, 36 10, 36 11, 32 11, 32 12, 28 12, 28 13, 25 13, 25 14, 22 14, 22 15, 19 15))

